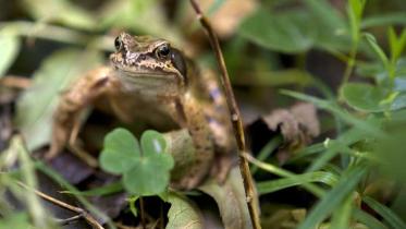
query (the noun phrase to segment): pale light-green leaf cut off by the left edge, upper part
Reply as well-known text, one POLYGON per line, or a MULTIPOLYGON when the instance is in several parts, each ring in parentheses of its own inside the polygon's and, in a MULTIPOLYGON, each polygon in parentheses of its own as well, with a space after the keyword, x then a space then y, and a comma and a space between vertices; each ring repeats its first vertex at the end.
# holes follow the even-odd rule
POLYGON ((0 31, 0 79, 14 62, 20 50, 20 38, 5 29, 0 31))

